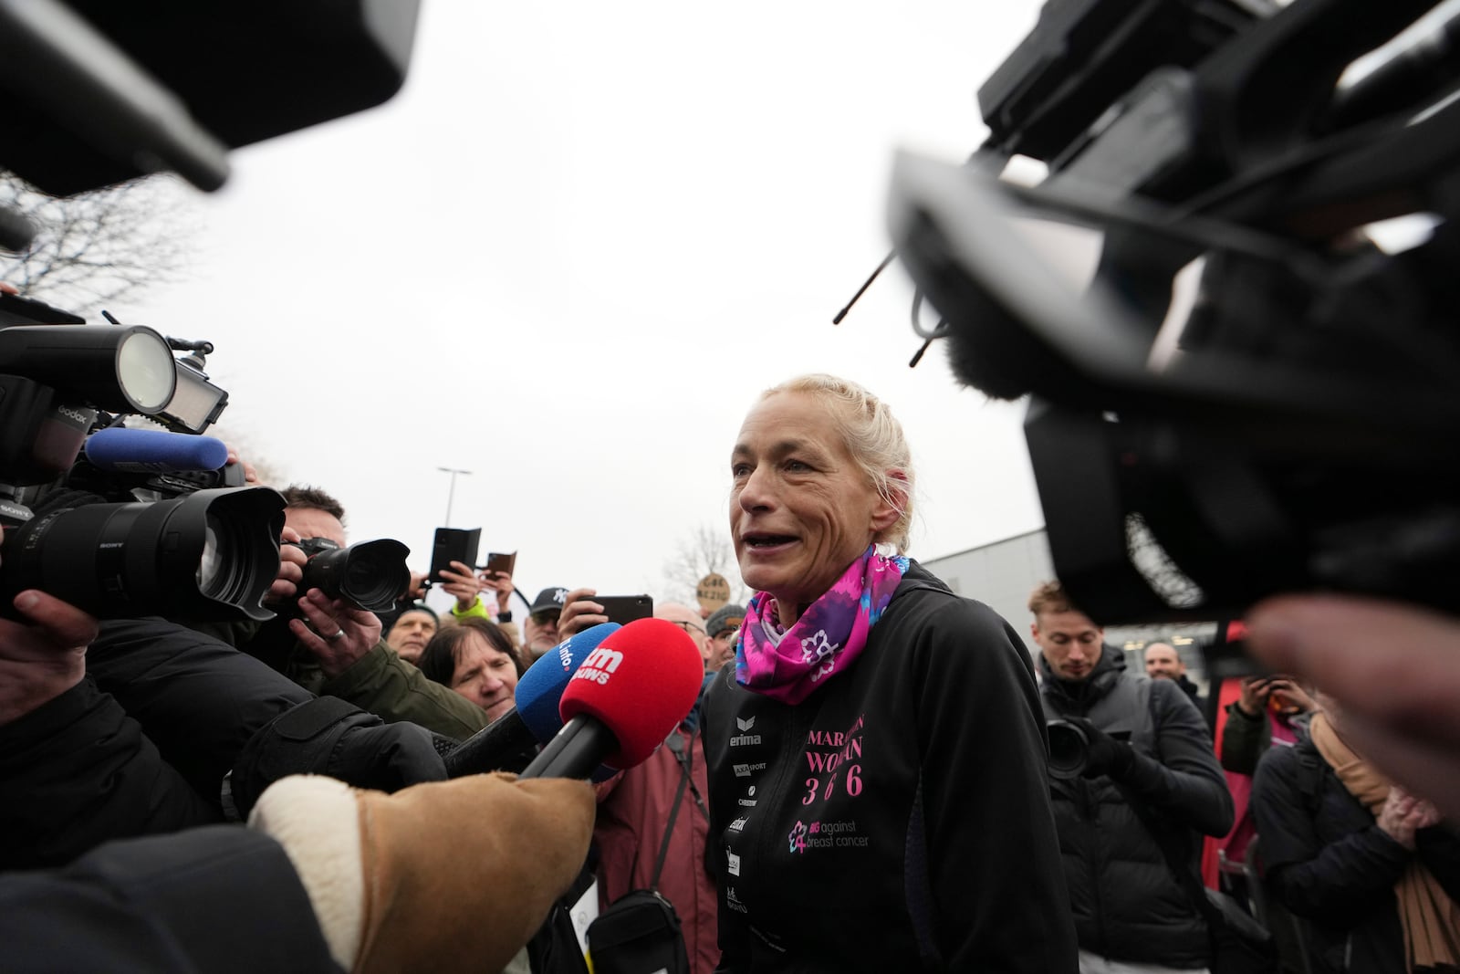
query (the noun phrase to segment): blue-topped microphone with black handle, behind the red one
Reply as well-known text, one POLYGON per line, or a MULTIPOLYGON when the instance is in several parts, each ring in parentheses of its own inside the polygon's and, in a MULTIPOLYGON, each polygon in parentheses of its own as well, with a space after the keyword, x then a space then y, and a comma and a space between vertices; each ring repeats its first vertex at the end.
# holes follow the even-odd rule
POLYGON ((533 745, 552 740, 562 730, 562 691, 588 654, 618 629, 618 622, 604 622, 577 632, 527 667, 517 680, 514 707, 445 755, 447 777, 496 771, 533 745))

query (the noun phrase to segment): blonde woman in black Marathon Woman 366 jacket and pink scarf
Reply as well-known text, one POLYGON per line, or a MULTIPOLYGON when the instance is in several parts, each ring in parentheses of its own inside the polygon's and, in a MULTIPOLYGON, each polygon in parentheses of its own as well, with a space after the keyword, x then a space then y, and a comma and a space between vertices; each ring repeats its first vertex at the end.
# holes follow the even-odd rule
POLYGON ((1075 971, 1029 654, 901 553, 896 419, 800 377, 730 467, 756 594, 704 707, 720 970, 1075 971))

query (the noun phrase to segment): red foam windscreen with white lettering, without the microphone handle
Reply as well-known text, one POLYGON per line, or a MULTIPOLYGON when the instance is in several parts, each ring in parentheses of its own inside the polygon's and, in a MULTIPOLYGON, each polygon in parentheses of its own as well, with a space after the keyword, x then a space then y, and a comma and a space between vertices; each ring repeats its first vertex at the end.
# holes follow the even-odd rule
POLYGON ((588 653, 562 692, 561 716, 597 717, 619 742, 603 762, 632 768, 689 714, 704 678, 688 632, 669 619, 635 619, 588 653))

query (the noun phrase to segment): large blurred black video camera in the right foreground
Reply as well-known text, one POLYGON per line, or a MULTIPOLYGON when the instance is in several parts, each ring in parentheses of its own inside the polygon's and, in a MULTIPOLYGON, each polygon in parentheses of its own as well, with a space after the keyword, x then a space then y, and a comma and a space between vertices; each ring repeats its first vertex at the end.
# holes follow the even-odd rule
POLYGON ((898 158, 923 334, 1031 396, 1056 574, 1096 621, 1314 588, 1460 612, 1453 7, 1048 0, 972 159, 898 158), (1047 175, 1000 180, 1015 156, 1047 175), (1425 239, 1375 244, 1396 218, 1425 239), (1101 235, 1083 292, 1031 221, 1101 235))

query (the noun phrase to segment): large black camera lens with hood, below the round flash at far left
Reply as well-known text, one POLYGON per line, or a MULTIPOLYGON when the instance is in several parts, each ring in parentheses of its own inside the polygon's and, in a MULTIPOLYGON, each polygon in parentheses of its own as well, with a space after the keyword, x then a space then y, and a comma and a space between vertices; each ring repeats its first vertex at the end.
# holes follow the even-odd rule
POLYGON ((273 618, 283 496, 264 486, 182 498, 57 505, 6 532, 0 609, 39 588, 101 619, 273 618))

